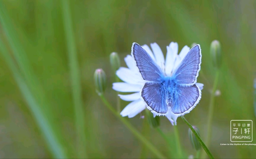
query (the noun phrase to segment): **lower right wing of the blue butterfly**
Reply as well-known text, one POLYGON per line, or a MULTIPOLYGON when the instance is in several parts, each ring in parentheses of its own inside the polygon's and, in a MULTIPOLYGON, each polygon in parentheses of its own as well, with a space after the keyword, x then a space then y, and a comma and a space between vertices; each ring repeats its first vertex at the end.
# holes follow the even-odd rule
POLYGON ((174 114, 185 114, 199 102, 201 90, 196 86, 177 86, 177 91, 173 94, 173 105, 171 111, 174 114))

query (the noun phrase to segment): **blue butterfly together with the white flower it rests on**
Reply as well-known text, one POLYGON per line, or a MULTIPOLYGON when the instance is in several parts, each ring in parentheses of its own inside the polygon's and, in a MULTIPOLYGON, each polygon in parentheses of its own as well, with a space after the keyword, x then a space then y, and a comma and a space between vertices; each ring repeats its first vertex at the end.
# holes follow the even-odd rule
POLYGON ((133 43, 131 56, 125 58, 128 68, 121 67, 116 74, 124 82, 113 83, 119 95, 132 101, 121 112, 122 116, 134 117, 147 107, 154 115, 164 115, 176 124, 178 116, 189 113, 201 98, 203 84, 196 83, 201 64, 200 45, 189 50, 183 47, 178 55, 178 44, 167 46, 166 60, 160 47, 151 48, 133 43))

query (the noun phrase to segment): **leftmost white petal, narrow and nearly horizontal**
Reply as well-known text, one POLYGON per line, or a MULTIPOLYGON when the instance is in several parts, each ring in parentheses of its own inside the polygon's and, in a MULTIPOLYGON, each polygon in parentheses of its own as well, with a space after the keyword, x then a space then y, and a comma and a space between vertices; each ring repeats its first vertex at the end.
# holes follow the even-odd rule
POLYGON ((142 87, 140 85, 129 84, 125 82, 116 82, 113 83, 112 87, 115 91, 119 92, 139 92, 142 87))

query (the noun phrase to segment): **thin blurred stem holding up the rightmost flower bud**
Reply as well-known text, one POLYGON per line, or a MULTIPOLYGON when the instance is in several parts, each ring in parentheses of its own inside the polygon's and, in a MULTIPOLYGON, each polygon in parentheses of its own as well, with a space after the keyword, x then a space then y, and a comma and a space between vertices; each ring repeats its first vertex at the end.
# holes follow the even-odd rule
MULTIPOLYGON (((214 98, 215 98, 215 91, 217 89, 219 79, 219 70, 216 71, 214 83, 213 83, 213 90, 211 92, 210 97, 210 105, 209 105, 209 112, 208 112, 208 119, 207 119, 207 137, 206 137, 206 146, 208 147, 211 141, 211 130, 212 130, 212 122, 213 122, 213 112, 214 112, 214 98)), ((202 158, 205 158, 205 153, 202 154, 202 158)))

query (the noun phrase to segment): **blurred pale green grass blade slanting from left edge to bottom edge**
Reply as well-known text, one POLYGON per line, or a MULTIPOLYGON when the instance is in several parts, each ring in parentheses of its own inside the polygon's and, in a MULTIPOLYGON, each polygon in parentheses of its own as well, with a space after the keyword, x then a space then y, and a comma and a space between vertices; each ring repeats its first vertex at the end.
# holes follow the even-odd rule
POLYGON ((36 122, 41 129, 45 140, 47 141, 48 146, 55 158, 67 158, 61 144, 57 141, 56 135, 52 131, 48 120, 45 118, 44 114, 40 110, 38 102, 35 100, 32 92, 29 90, 27 84, 22 79, 21 75, 18 72, 18 69, 15 67, 14 61, 12 60, 10 54, 8 53, 5 45, 0 39, 0 52, 4 57, 6 63, 12 71, 13 77, 23 95, 23 98, 26 100, 33 117, 36 119, 36 122))

